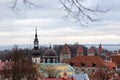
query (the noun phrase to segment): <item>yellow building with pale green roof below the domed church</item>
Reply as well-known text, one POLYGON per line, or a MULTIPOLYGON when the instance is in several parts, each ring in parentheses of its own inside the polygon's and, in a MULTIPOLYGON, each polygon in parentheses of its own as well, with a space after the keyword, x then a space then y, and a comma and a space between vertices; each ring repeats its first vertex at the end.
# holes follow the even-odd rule
POLYGON ((65 63, 41 63, 40 71, 44 74, 44 77, 49 78, 61 78, 65 76, 65 73, 69 77, 75 73, 73 67, 65 63))

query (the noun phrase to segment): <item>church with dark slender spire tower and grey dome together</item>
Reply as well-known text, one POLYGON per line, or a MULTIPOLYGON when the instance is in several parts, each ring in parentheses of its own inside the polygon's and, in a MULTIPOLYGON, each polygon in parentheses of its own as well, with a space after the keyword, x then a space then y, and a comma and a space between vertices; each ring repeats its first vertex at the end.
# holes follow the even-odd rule
POLYGON ((58 63, 58 54, 56 51, 51 47, 45 50, 43 54, 41 54, 39 48, 39 40, 37 35, 37 29, 35 30, 35 38, 34 38, 34 47, 32 49, 32 62, 40 64, 42 63, 58 63))

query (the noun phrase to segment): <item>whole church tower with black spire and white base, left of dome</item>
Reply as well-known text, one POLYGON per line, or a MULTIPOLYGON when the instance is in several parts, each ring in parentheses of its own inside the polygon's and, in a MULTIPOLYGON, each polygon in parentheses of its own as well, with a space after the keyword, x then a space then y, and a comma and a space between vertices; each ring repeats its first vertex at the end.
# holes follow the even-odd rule
POLYGON ((39 51, 39 41, 37 37, 37 28, 35 30, 35 38, 34 38, 34 47, 32 50, 32 62, 36 64, 40 64, 40 51, 39 51))

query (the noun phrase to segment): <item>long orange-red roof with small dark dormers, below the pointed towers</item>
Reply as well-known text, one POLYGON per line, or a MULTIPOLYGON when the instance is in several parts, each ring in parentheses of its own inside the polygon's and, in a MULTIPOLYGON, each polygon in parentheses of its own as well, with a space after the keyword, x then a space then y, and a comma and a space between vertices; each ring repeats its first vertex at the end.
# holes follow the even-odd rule
POLYGON ((75 56, 71 59, 74 66, 82 66, 84 63, 86 67, 105 67, 105 62, 98 56, 75 56))

